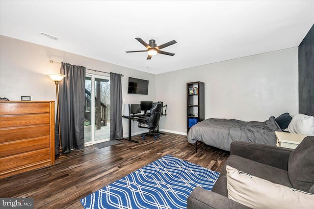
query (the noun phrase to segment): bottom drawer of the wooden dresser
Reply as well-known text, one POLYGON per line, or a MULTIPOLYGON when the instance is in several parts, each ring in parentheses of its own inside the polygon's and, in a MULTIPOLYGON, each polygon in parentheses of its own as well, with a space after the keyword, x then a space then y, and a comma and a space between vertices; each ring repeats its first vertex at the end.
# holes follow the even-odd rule
POLYGON ((17 170, 23 168, 24 166, 34 163, 39 163, 40 161, 50 159, 50 148, 36 150, 28 153, 22 153, 19 155, 1 157, 0 158, 0 173, 7 173, 10 170, 17 170))

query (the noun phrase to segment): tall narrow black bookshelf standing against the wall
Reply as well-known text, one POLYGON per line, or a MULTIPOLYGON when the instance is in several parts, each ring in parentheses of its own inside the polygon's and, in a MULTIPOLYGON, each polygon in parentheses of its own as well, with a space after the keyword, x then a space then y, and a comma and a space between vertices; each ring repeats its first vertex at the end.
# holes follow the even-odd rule
POLYGON ((205 84, 200 81, 186 83, 186 131, 205 119, 205 84))

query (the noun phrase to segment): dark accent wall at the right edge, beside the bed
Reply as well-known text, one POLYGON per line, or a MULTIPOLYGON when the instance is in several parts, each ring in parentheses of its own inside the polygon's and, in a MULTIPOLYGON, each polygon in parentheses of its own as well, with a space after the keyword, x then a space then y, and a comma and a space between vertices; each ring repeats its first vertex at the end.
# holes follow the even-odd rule
POLYGON ((314 116, 314 25, 299 45, 299 113, 314 116))

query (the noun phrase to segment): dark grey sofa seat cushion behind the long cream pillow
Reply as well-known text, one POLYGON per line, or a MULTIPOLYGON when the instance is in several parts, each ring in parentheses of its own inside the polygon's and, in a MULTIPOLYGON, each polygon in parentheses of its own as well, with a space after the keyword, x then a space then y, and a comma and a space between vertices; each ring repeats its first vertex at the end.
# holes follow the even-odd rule
POLYGON ((265 165, 244 157, 239 157, 235 155, 230 155, 226 160, 224 167, 222 168, 221 174, 226 176, 226 166, 229 165, 238 169, 239 171, 243 171, 249 173, 253 176, 268 180, 272 183, 278 183, 285 186, 292 187, 289 178, 288 171, 275 168, 269 165, 265 165))

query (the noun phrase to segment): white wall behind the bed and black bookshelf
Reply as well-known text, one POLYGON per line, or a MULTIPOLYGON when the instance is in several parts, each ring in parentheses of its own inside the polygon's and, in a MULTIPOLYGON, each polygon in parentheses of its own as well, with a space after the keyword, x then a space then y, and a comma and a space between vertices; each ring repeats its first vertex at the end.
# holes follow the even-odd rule
POLYGON ((193 81, 205 82, 205 118, 265 121, 297 114, 298 48, 157 75, 156 99, 168 105, 161 130, 186 133, 186 82, 193 81))

